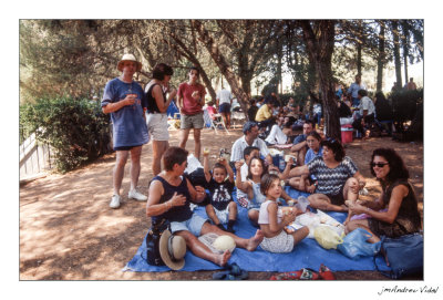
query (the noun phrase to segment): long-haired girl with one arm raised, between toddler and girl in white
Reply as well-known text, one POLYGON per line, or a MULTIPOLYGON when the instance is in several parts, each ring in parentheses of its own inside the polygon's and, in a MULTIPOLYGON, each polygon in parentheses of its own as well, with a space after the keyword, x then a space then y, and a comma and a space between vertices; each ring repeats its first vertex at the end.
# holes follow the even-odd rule
MULTIPOLYGON (((236 162, 236 185, 238 189, 248 194, 249 199, 253 199, 248 205, 248 218, 254 225, 258 226, 260 205, 266 200, 266 196, 260 190, 260 182, 262 176, 268 173, 268 168, 261 158, 253 157, 248 166, 248 180, 241 182, 240 168, 243 164, 243 162, 236 162)), ((279 177, 277 176, 277 178, 279 177)), ((286 201, 293 200, 285 190, 281 192, 281 197, 286 201)))

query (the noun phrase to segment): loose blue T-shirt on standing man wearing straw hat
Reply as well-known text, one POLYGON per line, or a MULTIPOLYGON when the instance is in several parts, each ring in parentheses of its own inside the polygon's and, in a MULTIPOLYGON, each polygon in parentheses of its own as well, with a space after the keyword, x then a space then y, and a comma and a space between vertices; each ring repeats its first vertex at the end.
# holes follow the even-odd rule
POLYGON ((111 113, 114 148, 140 146, 150 141, 143 112, 143 107, 146 107, 145 93, 138 83, 125 83, 120 79, 109 81, 104 87, 102 107, 124 100, 127 94, 137 95, 135 103, 111 113))

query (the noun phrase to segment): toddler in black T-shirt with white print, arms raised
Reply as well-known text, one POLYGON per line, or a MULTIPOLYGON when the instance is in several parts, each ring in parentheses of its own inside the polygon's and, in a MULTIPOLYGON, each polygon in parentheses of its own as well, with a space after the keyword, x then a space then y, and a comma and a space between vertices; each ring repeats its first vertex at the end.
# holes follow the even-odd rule
POLYGON ((234 172, 225 158, 218 158, 209 173, 209 153, 203 154, 203 168, 210 194, 210 204, 206 205, 206 214, 222 230, 234 234, 234 224, 237 219, 237 204, 233 200, 234 172), (229 175, 228 178, 226 176, 229 175), (227 224, 227 228, 223 226, 227 224))

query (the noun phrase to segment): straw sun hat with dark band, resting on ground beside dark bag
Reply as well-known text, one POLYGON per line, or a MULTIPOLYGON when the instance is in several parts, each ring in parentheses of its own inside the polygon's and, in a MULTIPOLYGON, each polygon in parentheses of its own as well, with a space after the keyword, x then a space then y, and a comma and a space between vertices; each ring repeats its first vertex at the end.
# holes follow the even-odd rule
POLYGON ((159 238, 159 256, 163 262, 173 270, 179 270, 185 266, 186 241, 179 236, 165 230, 159 238))

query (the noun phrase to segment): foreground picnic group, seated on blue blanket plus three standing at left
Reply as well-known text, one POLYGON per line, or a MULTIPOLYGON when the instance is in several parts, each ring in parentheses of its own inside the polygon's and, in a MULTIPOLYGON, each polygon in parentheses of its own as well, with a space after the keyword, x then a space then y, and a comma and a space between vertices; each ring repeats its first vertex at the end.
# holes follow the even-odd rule
MULTIPOLYGON (((290 158, 284 170, 272 165, 268 145, 259 138, 259 123, 247 122, 243 127, 244 136, 233 144, 230 162, 220 157, 210 170, 208 153, 204 152, 205 183, 195 185, 184 173, 188 158, 185 145, 190 128, 194 128, 196 145, 194 154, 198 159, 200 156, 199 133, 203 128, 205 89, 197 83, 198 70, 192 69, 189 80, 182 83, 176 92, 168 86, 173 70, 166 64, 158 64, 153 70, 152 81, 143 91, 132 79, 141 68, 133 55, 123 56, 117 65, 122 75, 106 84, 102 100, 103 112, 111 113, 116 151, 111 207, 120 206, 123 169, 131 155, 128 197, 147 200, 146 216, 152 218, 153 224, 168 220, 172 234, 181 236, 194 255, 219 266, 226 265, 231 254, 229 250, 213 252, 198 239, 199 236, 208 232, 227 235, 237 247, 254 251, 260 246, 270 252, 292 251, 295 245, 308 236, 307 227, 287 230, 287 226, 306 211, 292 206, 297 199, 285 193, 281 180, 310 193, 308 200, 311 208, 349 211, 350 215, 364 213, 369 216, 365 219, 347 220, 347 230, 365 228, 373 234, 372 242, 378 241, 380 235, 396 237, 420 229, 416 199, 408 183, 409 173, 394 151, 374 151, 371 172, 380 180, 383 192, 377 201, 361 201, 359 190, 364 187, 365 179, 352 159, 346 156, 341 143, 323 138, 310 121, 302 125, 303 133, 292 138, 295 145, 291 152, 297 158, 290 158), (175 95, 178 95, 182 114, 182 136, 179 146, 169 147, 164 113, 175 95), (146 197, 136 190, 136 186, 141 149, 150 135, 153 139, 155 177, 150 183, 146 197), (163 162, 163 169, 159 162, 163 162), (237 203, 233 196, 235 188, 237 203), (202 204, 208 196, 206 219, 193 211, 192 204, 202 204), (284 200, 289 206, 282 205, 284 200), (235 235, 237 204, 248 209, 248 218, 257 227, 250 238, 235 235)), ((265 100, 264 105, 269 102, 265 100)), ((266 120, 271 108, 264 108, 260 115, 266 120)), ((293 123, 293 120, 281 121, 282 130, 289 130, 285 127, 288 123, 293 123)), ((286 133, 291 136, 290 132, 286 133)))

